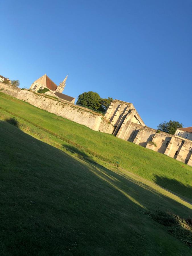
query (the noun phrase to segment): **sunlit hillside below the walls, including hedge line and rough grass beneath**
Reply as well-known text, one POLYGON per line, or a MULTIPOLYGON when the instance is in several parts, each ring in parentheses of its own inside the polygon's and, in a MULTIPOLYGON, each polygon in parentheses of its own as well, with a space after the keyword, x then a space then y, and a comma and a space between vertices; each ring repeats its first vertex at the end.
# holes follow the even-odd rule
POLYGON ((16 116, 24 124, 21 129, 32 129, 38 138, 57 148, 77 152, 105 166, 109 162, 118 162, 118 166, 129 172, 192 198, 192 168, 186 164, 113 135, 92 131, 84 125, 48 113, 2 92, 0 103, 2 119, 16 116))

